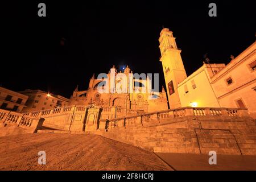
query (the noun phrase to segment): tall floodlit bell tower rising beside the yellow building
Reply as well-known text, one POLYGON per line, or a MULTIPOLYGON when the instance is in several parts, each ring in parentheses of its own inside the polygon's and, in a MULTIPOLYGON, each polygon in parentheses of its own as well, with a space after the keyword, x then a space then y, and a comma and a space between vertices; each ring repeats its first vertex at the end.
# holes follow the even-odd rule
POLYGON ((170 109, 181 107, 177 84, 187 78, 183 61, 181 59, 181 50, 177 48, 172 31, 163 28, 160 32, 160 51, 164 80, 166 81, 168 102, 170 109))

